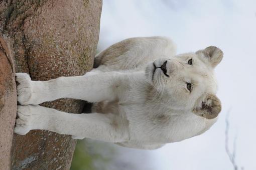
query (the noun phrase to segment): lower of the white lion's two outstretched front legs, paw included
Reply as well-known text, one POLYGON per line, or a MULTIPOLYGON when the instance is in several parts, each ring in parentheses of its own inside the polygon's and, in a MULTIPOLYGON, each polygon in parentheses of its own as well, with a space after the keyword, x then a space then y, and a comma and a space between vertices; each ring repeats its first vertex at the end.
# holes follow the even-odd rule
POLYGON ((41 129, 107 142, 122 142, 129 138, 127 122, 112 114, 72 114, 39 105, 18 106, 17 112, 14 131, 18 134, 41 129))

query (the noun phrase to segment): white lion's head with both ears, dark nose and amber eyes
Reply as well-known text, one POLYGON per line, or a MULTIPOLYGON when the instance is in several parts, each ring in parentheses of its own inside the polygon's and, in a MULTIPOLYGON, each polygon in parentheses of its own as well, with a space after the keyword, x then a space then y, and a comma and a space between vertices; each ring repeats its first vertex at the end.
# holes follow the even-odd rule
POLYGON ((212 119, 221 110, 213 71, 222 57, 220 49, 210 46, 196 53, 158 59, 147 66, 146 77, 161 95, 167 96, 165 100, 172 109, 212 119))

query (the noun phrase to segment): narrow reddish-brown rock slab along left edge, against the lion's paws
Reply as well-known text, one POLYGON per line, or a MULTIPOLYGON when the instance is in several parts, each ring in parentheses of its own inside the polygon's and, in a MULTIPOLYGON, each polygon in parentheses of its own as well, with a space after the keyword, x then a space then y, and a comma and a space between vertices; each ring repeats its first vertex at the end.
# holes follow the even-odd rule
POLYGON ((10 153, 17 110, 14 72, 8 45, 0 36, 0 169, 8 169, 11 162, 10 153))

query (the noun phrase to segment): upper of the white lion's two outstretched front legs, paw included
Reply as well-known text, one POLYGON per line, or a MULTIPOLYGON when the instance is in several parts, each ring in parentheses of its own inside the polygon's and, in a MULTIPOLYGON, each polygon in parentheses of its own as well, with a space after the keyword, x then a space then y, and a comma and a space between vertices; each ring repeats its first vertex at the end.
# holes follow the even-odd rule
POLYGON ((16 73, 18 101, 22 105, 40 104, 59 98, 74 98, 88 102, 114 100, 121 83, 121 73, 108 72, 84 76, 59 77, 49 81, 31 81, 26 73, 16 73))

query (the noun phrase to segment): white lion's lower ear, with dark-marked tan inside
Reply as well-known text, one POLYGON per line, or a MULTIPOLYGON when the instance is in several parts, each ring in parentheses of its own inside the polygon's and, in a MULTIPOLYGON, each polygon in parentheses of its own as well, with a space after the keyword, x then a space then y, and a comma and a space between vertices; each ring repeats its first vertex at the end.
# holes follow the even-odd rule
POLYGON ((218 116, 221 111, 221 102, 215 95, 208 95, 202 101, 200 107, 197 107, 193 112, 207 119, 213 119, 218 116))

